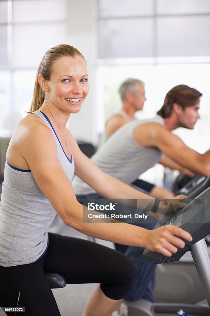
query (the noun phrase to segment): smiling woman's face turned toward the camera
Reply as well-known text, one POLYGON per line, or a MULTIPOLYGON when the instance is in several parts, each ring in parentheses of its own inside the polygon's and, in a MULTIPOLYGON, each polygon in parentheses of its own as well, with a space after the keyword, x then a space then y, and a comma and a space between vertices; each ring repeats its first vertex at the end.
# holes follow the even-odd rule
POLYGON ((46 82, 48 106, 57 106, 68 113, 79 112, 89 90, 86 62, 79 55, 64 56, 55 60, 52 70, 46 82))

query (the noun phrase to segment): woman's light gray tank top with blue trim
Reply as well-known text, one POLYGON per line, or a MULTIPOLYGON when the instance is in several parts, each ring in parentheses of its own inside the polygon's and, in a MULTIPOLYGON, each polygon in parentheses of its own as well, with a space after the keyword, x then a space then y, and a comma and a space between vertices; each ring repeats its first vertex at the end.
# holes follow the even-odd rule
MULTIPOLYGON (((52 131, 57 157, 69 181, 74 161, 66 156, 49 119, 36 114, 52 131)), ((57 213, 39 189, 30 170, 21 170, 7 162, 0 202, 0 265, 29 264, 40 258, 48 246, 47 229, 57 213)))

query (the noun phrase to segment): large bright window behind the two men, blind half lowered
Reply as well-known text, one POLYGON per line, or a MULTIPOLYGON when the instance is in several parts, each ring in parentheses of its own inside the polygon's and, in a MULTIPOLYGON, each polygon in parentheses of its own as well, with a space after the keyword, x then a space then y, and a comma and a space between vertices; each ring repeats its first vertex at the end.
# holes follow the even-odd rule
POLYGON ((98 43, 99 133, 121 108, 118 88, 126 78, 145 82, 147 101, 139 119, 154 116, 167 91, 187 84, 203 94, 201 119, 193 131, 175 133, 201 153, 209 149, 210 1, 98 0, 98 43))

